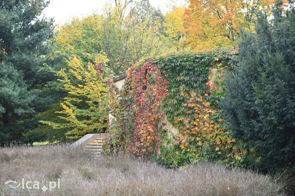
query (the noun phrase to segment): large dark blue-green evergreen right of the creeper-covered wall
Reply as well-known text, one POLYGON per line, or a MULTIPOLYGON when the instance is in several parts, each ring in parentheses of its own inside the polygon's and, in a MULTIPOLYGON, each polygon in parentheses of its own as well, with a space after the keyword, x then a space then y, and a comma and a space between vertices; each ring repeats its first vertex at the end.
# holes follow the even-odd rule
POLYGON ((259 13, 255 32, 243 32, 238 66, 225 80, 223 119, 232 137, 245 140, 262 157, 260 169, 275 171, 295 164, 295 9, 283 1, 273 19, 259 13))

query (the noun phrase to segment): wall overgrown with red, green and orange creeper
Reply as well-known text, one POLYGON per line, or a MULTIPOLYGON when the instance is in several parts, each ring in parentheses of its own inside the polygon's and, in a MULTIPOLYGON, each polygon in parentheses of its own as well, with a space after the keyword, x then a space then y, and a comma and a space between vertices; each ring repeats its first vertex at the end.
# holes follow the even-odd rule
POLYGON ((247 165, 255 151, 231 138, 220 117, 224 71, 235 50, 171 53, 134 65, 111 92, 106 148, 155 158, 168 166, 202 159, 247 165))

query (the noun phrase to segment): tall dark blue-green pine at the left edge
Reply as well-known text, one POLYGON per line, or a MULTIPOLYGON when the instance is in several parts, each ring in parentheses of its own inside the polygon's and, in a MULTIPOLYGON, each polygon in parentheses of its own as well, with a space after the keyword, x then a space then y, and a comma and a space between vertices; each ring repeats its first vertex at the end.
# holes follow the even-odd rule
POLYGON ((21 140, 26 122, 53 99, 45 84, 53 19, 40 18, 45 0, 0 1, 0 144, 21 140))

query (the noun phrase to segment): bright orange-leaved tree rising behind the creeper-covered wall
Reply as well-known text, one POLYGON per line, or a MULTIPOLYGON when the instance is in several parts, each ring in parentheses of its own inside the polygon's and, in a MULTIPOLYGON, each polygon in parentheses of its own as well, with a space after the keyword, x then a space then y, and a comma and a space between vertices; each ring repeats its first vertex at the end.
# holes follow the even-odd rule
POLYGON ((187 42, 196 51, 234 46, 239 38, 239 26, 251 28, 255 12, 264 9, 270 12, 273 0, 219 1, 189 0, 185 11, 183 33, 187 42))

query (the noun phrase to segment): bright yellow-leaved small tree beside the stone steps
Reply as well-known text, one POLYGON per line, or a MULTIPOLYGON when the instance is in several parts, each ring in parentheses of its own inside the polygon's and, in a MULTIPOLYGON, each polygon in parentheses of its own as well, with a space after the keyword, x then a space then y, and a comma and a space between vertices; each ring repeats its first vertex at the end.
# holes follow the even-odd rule
POLYGON ((40 121, 52 126, 53 129, 69 129, 68 138, 77 139, 87 133, 103 133, 108 121, 108 92, 112 80, 109 77, 104 55, 97 55, 96 65, 83 64, 75 56, 68 61, 68 68, 61 69, 58 79, 62 90, 67 92, 60 105, 63 110, 60 122, 40 121))

